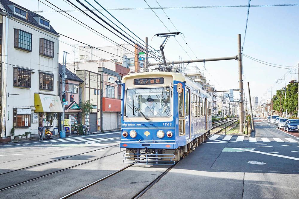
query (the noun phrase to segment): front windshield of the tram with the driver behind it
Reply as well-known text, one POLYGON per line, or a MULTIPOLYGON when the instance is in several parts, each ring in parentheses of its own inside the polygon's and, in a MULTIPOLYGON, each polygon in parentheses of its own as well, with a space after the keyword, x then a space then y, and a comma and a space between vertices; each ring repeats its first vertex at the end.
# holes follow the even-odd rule
POLYGON ((128 89, 126 91, 126 117, 169 117, 171 95, 170 87, 128 89))

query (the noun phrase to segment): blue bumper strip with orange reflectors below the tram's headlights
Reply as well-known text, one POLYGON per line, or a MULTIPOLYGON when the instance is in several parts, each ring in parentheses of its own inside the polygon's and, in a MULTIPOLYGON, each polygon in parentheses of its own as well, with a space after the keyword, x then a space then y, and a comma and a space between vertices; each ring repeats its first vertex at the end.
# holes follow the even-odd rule
POLYGON ((132 143, 132 142, 121 142, 120 148, 144 148, 144 149, 177 149, 177 143, 132 143))

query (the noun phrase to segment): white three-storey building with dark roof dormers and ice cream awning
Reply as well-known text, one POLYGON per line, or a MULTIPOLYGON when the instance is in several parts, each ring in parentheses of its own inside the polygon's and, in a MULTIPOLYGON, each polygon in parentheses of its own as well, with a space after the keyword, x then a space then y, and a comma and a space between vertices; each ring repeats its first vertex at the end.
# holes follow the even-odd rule
POLYGON ((58 33, 50 21, 8 0, 0 0, 1 137, 38 134, 57 127, 58 33))

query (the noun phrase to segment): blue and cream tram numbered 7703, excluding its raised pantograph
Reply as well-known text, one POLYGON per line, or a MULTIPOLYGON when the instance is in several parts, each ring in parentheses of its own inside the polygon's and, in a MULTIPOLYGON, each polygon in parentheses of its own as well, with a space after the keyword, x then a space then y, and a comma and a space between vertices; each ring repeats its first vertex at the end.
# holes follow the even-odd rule
POLYGON ((208 138, 212 101, 200 84, 176 72, 134 73, 122 83, 125 163, 174 164, 208 138))

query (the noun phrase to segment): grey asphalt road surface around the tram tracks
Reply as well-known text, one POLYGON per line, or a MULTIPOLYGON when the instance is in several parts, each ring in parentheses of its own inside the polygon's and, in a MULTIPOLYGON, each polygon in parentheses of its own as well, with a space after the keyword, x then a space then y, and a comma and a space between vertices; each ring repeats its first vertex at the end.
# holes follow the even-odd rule
MULTIPOLYGON (((141 198, 299 198, 299 139, 265 120, 255 118, 255 127, 255 138, 211 136, 141 198)), ((0 189, 21 183, 0 198, 61 198, 128 166, 113 146, 119 138, 112 132, 0 146, 0 189)), ((168 167, 134 165, 70 198, 134 198, 168 167)))

